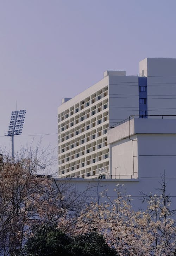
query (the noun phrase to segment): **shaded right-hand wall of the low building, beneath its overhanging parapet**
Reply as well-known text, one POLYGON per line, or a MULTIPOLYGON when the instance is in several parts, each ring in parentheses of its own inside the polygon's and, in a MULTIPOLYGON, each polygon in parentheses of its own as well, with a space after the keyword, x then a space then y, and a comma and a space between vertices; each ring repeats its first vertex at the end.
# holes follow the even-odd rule
POLYGON ((138 134, 140 178, 176 178, 176 134, 138 134))

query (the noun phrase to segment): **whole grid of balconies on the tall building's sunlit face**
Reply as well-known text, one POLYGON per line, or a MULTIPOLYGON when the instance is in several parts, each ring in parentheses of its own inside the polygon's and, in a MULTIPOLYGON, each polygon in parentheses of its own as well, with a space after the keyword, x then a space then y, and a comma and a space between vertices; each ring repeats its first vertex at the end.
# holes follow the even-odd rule
POLYGON ((86 178, 109 170, 108 115, 108 87, 58 114, 59 175, 86 178))

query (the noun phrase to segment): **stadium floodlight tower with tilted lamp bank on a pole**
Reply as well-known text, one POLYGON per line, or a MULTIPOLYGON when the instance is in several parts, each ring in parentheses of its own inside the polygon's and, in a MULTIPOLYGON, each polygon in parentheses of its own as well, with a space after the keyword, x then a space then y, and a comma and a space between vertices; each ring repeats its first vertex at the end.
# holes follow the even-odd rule
POLYGON ((12 138, 12 158, 14 158, 14 135, 22 133, 25 114, 26 110, 12 111, 8 132, 5 132, 5 136, 12 138))

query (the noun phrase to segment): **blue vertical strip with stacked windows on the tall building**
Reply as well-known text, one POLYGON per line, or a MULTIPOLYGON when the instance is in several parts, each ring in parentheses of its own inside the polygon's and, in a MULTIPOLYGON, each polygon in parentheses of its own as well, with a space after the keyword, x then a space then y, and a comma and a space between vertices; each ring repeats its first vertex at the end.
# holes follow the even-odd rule
POLYGON ((147 118, 147 77, 138 77, 139 118, 147 118))

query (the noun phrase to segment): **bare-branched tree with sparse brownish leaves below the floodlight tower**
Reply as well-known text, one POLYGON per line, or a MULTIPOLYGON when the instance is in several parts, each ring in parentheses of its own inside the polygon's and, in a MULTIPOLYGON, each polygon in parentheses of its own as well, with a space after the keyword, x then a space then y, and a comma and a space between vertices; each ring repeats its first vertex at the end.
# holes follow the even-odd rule
POLYGON ((55 161, 50 148, 21 150, 14 159, 0 159, 0 254, 16 255, 35 223, 58 223, 80 215, 86 196, 67 182, 56 183, 49 170, 55 161))

